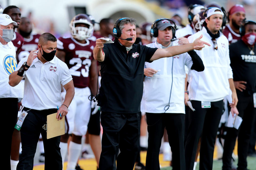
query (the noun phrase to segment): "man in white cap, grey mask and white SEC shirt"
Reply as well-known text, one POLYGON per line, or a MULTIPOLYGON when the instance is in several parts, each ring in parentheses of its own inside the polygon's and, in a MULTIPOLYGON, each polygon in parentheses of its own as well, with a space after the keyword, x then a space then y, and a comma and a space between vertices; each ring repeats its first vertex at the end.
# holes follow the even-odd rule
POLYGON ((11 137, 18 115, 18 102, 23 97, 21 84, 11 87, 9 75, 16 69, 16 52, 11 40, 13 39, 13 25, 17 25, 7 14, 0 14, 0 107, 2 118, 3 155, 2 168, 10 169, 11 137))

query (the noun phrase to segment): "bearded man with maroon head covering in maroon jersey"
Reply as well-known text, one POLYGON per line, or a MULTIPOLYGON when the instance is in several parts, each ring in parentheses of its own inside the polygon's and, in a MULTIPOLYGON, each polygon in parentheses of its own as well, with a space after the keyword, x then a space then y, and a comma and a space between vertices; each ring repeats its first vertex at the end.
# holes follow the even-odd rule
POLYGON ((245 8, 242 5, 236 4, 230 8, 227 13, 227 20, 229 24, 226 25, 226 28, 222 31, 229 40, 229 44, 235 43, 237 40, 241 39, 241 36, 239 35, 239 27, 244 19, 245 8))

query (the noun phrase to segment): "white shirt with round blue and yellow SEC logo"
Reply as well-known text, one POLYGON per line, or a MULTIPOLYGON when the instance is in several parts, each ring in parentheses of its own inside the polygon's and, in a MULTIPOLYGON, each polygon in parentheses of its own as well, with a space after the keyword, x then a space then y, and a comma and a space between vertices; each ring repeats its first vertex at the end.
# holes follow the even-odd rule
POLYGON ((8 83, 9 75, 17 68, 16 50, 11 41, 6 45, 0 43, 0 60, 0 98, 22 98, 22 84, 11 87, 8 83))

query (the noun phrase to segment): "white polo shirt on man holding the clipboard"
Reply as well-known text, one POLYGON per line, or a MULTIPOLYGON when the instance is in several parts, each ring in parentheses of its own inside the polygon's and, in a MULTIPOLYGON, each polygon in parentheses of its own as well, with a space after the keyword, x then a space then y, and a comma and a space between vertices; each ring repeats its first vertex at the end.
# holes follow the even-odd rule
MULTIPOLYGON (((28 57, 22 58, 17 71, 28 57)), ((72 80, 66 63, 54 56, 53 60, 42 63, 35 58, 25 74, 24 107, 44 110, 61 105, 61 84, 64 86, 72 80)))

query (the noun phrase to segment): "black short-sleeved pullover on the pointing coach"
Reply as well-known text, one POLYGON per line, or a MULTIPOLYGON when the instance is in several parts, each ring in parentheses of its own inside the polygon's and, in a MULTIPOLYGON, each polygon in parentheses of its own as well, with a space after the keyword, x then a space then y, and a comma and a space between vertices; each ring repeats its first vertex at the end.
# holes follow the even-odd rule
POLYGON ((128 52, 118 40, 104 44, 98 105, 102 112, 138 113, 143 94, 144 64, 157 48, 133 44, 128 52))

